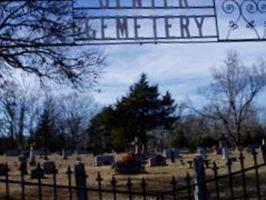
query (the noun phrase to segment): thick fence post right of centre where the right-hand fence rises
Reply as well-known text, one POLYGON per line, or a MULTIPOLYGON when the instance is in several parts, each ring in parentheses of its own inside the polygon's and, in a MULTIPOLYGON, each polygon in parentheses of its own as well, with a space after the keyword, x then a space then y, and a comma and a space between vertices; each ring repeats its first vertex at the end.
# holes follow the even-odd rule
POLYGON ((196 189, 194 192, 195 200, 208 200, 209 194, 205 182, 204 159, 201 156, 194 158, 194 170, 196 175, 196 189))

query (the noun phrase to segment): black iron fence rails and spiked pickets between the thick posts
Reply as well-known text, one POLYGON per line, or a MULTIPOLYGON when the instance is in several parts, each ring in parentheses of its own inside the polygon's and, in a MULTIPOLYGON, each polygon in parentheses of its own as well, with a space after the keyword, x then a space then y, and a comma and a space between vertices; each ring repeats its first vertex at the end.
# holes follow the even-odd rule
MULTIPOLYGON (((147 186, 149 183, 146 181, 145 178, 141 179, 140 182, 135 183, 132 181, 132 179, 129 177, 125 183, 119 184, 118 185, 118 180, 113 176, 112 180, 109 181, 108 187, 104 188, 105 185, 103 185, 103 178, 100 173, 98 173, 98 176, 96 178, 96 185, 95 187, 92 186, 86 186, 86 187, 77 187, 74 185, 73 182, 73 172, 71 171, 70 167, 68 167, 68 170, 66 172, 66 182, 68 183, 67 185, 61 185, 58 184, 57 182, 57 173, 56 169, 54 170, 54 173, 51 174, 51 182, 52 183, 45 183, 42 180, 42 177, 37 178, 35 181, 27 181, 25 180, 25 175, 22 171, 22 168, 20 167, 20 180, 13 180, 11 174, 9 173, 8 165, 6 164, 6 173, 5 175, 2 174, 2 178, 0 177, 0 187, 2 185, 2 188, 4 188, 5 191, 0 191, 0 195, 4 195, 4 198, 6 200, 10 200, 12 197, 12 194, 10 190, 12 189, 13 185, 19 185, 20 186, 20 193, 21 193, 21 200, 26 200, 26 187, 36 187, 37 192, 36 195, 38 196, 38 199, 42 200, 44 198, 44 188, 49 188, 52 189, 53 192, 50 194, 53 196, 53 199, 58 199, 60 196, 60 189, 67 190, 67 198, 65 199, 75 199, 74 195, 76 195, 77 191, 82 189, 83 191, 87 191, 90 195, 90 192, 93 192, 96 194, 97 199, 103 200, 104 195, 108 196, 108 199, 113 199, 117 200, 119 199, 118 196, 120 195, 123 196, 126 199, 132 200, 135 197, 138 197, 139 199, 146 200, 148 198, 151 199, 157 199, 157 200, 164 200, 164 199, 171 199, 171 200, 178 200, 180 199, 180 194, 182 194, 181 199, 188 199, 192 200, 194 199, 194 192, 195 189, 202 184, 211 184, 212 185, 212 190, 209 192, 211 193, 212 196, 215 196, 215 199, 223 199, 221 196, 222 193, 222 187, 221 185, 221 180, 223 179, 226 181, 227 187, 229 187, 226 190, 226 194, 229 195, 229 199, 249 199, 249 197, 255 196, 257 199, 262 199, 263 196, 263 190, 261 189, 263 186, 266 187, 266 183, 264 182, 265 185, 262 184, 262 177, 260 177, 260 169, 266 166, 266 163, 258 163, 258 157, 257 153, 254 151, 253 152, 253 163, 251 164, 252 166, 245 167, 245 158, 242 153, 240 153, 240 156, 238 158, 238 163, 240 164, 240 170, 237 171, 232 171, 232 161, 229 159, 226 163, 226 168, 227 168, 227 174, 219 175, 219 168, 217 167, 216 162, 213 162, 213 166, 211 168, 208 168, 209 170, 212 170, 212 175, 213 178, 206 179, 204 182, 198 182, 195 183, 193 176, 191 176, 189 173, 184 177, 184 180, 181 181, 184 185, 180 186, 178 183, 180 182, 180 179, 176 179, 176 177, 172 177, 169 187, 171 188, 161 188, 158 191, 149 191, 147 186), (249 173, 247 176, 248 172, 254 173, 249 173), (238 185, 235 185, 234 179, 238 177, 238 180, 240 181, 238 185), (252 177, 253 184, 251 186, 248 186, 248 181, 247 178, 252 177), (133 187, 134 186, 134 187, 133 187), (242 191, 241 194, 236 193, 236 187, 241 187, 242 191), (253 194, 248 194, 248 188, 252 187, 253 194), (123 189, 121 189, 123 188, 123 189), (136 189, 137 188, 137 189, 136 189), (2 193, 4 194, 2 194, 2 193)), ((37 169, 41 169, 40 165, 37 166, 37 169)), ((239 191, 239 188, 238 188, 239 191)), ((224 192, 224 191, 223 191, 224 192)), ((18 194, 19 195, 19 194, 18 194)), ((17 196, 17 194, 16 194, 17 196)), ((124 199, 123 198, 123 199, 124 199)))

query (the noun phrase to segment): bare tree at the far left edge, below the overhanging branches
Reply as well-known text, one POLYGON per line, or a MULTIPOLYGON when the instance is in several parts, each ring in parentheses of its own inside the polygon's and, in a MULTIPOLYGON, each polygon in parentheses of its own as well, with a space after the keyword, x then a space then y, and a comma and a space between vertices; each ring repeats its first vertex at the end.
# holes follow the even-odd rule
POLYGON ((2 129, 19 145, 24 143, 24 135, 29 134, 37 119, 38 93, 31 92, 28 86, 18 85, 14 81, 6 82, 0 90, 0 119, 2 129))

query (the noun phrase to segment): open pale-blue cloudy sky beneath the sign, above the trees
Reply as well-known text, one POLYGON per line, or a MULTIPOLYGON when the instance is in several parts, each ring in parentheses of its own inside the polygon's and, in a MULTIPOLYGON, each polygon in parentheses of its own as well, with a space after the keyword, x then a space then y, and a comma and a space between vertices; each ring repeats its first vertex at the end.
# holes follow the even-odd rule
POLYGON ((169 90, 176 100, 190 99, 199 104, 197 89, 208 85, 211 68, 222 67, 228 51, 237 50, 247 66, 266 57, 265 42, 120 45, 103 49, 107 65, 98 80, 101 92, 94 93, 103 105, 125 95, 143 72, 151 83, 159 84, 161 92, 169 90))

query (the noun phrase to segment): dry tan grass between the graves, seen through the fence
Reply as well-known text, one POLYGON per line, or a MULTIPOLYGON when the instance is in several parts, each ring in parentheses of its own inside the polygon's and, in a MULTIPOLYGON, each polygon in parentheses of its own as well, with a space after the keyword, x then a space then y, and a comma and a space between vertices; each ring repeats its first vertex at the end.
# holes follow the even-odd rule
MULTIPOLYGON (((232 152, 233 156, 239 157, 237 152, 232 152)), ((116 155, 116 160, 119 160, 121 158, 122 154, 116 155)), ((88 185, 89 187, 97 188, 97 182, 96 177, 97 173, 100 172, 103 177, 103 188, 109 188, 110 187, 110 181, 113 176, 116 177, 118 181, 118 189, 125 190, 125 183, 127 181, 128 176, 127 175, 119 175, 114 172, 114 170, 107 166, 107 167, 95 167, 94 166, 94 158, 92 155, 81 155, 79 156, 82 160, 82 162, 86 166, 86 173, 88 175, 88 185)), ((194 157, 194 154, 185 154, 183 155, 183 160, 192 160, 194 157)), ((209 153, 208 157, 211 161, 215 161, 219 167, 219 175, 227 174, 227 166, 225 164, 225 160, 221 159, 220 155, 214 155, 213 153, 209 153)), ((249 153, 245 153, 245 166, 250 167, 253 166, 253 158, 252 155, 249 153)), ((67 167, 70 166, 71 169, 74 169, 74 164, 77 156, 71 156, 68 160, 64 161, 59 155, 52 155, 49 157, 50 161, 54 161, 56 163, 56 166, 59 170, 58 177, 58 184, 60 185, 67 185, 67 167)), ((12 180, 20 180, 19 175, 19 161, 17 158, 11 158, 11 157, 0 157, 0 163, 7 162, 11 171, 10 171, 10 179, 12 180)), ((44 162, 43 159, 38 159, 38 162, 41 164, 44 162)), ((262 156, 258 155, 258 163, 262 163, 262 156)), ((32 168, 30 168, 32 169, 32 168)), ((29 171, 30 171, 29 169, 29 171)), ((240 165, 238 162, 234 162, 232 166, 232 171, 238 171, 240 169, 240 165)), ((164 190, 170 190, 171 189, 171 178, 172 176, 175 176, 177 178, 178 185, 184 185, 185 181, 184 178, 187 173, 190 173, 193 175, 192 169, 188 169, 187 165, 181 165, 180 162, 176 163, 168 163, 168 166, 166 167, 145 167, 145 173, 138 174, 138 175, 131 175, 133 184, 135 184, 135 189, 139 189, 139 184, 141 179, 144 177, 147 180, 149 191, 164 191, 164 190)), ((213 177, 213 171, 212 169, 206 170, 208 177, 213 177)), ((264 179, 266 175, 266 168, 263 168, 260 170, 260 176, 264 179)), ((254 172, 250 172, 249 176, 247 177, 248 183, 252 183, 252 188, 255 187, 255 179, 254 172)), ((26 176, 26 181, 33 181, 30 179, 29 176, 26 176)), ((44 183, 53 183, 52 182, 52 176, 46 176, 46 178, 43 180, 44 183)), ((73 180, 74 184, 74 180, 73 180)), ((235 185, 239 185, 239 187, 235 187, 236 191, 241 191, 241 177, 235 178, 234 181, 235 185)), ((266 184, 265 184, 266 185, 266 184)), ((208 186, 210 188, 213 188, 213 184, 208 186)), ((222 180, 221 181, 221 187, 225 191, 225 193, 228 193, 228 180, 222 180), (227 191, 227 192, 226 192, 227 191)), ((21 192, 21 188, 19 185, 12 185, 10 193, 12 194, 13 199, 20 199, 19 195, 21 192), (17 197, 17 198, 16 198, 17 197)), ((214 188, 213 188, 214 189, 214 188)), ((0 183, 0 199, 4 197, 5 193, 5 185, 0 183), (1 198, 2 195, 2 198, 1 198)), ((68 198, 68 191, 67 190, 59 190, 59 199, 67 199, 68 198)), ((27 199, 37 199, 38 195, 38 188, 37 187, 26 187, 26 194, 27 199)), ((43 189, 44 199, 52 199, 53 190, 52 189, 43 189)), ((97 194, 91 194, 90 196, 97 197, 97 194)), ((106 197, 105 197, 106 198, 106 197)), ((122 197, 121 197, 122 198, 122 197)), ((109 199, 109 198, 106 198, 109 199)), ((124 198, 122 198, 124 199, 124 198)))

